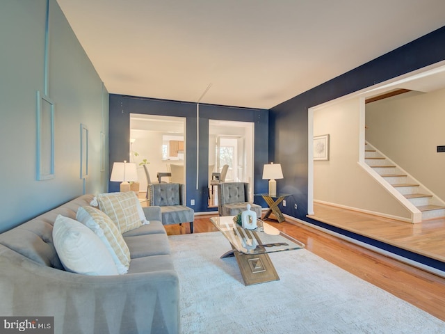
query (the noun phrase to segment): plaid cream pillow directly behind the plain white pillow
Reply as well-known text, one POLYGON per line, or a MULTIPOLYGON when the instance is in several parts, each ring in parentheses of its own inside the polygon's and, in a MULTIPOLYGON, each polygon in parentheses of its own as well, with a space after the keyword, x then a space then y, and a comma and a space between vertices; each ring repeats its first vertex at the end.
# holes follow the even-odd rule
POLYGON ((130 266, 130 250, 111 218, 95 207, 86 206, 77 209, 76 219, 95 232, 104 243, 119 273, 127 273, 130 266))

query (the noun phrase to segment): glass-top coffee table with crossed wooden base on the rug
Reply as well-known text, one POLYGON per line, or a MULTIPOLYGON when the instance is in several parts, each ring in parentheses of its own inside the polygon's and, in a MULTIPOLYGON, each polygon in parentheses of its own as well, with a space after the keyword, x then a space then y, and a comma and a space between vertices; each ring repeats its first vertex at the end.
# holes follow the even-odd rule
POLYGON ((212 217, 210 221, 232 246, 221 258, 236 257, 245 285, 280 280, 268 253, 305 248, 302 242, 259 219, 255 230, 241 228, 234 216, 212 217))

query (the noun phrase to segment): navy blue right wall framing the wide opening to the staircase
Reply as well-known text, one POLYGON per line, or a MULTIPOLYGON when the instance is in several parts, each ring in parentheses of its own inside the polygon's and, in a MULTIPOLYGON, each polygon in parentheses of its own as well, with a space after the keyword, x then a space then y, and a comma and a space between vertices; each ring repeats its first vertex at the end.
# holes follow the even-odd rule
MULTIPOLYGON (((284 180, 277 180, 286 199, 282 212, 309 221, 307 215, 307 110, 357 90, 373 86, 445 59, 445 26, 373 61, 346 72, 291 100, 269 113, 270 159, 282 164, 284 180), (298 204, 294 209, 293 201, 298 204)), ((304 79, 304 78, 303 78, 304 79)))

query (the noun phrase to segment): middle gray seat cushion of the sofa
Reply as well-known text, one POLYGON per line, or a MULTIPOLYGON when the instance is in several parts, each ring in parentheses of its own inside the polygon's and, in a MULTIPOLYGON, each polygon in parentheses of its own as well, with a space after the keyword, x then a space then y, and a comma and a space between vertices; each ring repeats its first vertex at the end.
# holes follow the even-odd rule
POLYGON ((170 254, 170 244, 165 234, 145 234, 126 237, 131 261, 138 257, 170 254))

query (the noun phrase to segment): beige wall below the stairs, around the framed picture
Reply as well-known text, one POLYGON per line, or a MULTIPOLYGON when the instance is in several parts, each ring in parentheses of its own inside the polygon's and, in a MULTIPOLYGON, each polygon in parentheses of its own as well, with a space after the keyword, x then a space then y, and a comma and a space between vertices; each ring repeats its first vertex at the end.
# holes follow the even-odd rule
POLYGON ((410 218, 410 213, 359 166, 359 99, 314 111, 314 136, 330 134, 329 161, 314 161, 314 200, 410 218))

